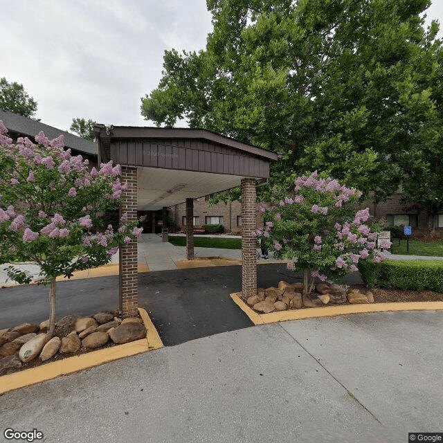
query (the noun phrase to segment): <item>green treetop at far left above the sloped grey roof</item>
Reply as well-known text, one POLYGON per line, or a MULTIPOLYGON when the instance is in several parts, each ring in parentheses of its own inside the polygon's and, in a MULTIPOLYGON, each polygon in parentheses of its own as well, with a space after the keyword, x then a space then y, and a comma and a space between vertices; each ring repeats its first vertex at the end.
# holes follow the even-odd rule
POLYGON ((37 102, 26 93, 23 84, 0 78, 0 108, 24 117, 33 118, 37 102))

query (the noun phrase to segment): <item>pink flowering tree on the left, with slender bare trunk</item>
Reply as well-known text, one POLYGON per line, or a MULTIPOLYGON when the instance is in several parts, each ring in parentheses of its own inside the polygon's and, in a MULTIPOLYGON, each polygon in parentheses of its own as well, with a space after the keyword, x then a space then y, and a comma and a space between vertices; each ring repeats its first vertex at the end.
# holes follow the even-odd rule
POLYGON ((13 264, 39 265, 39 283, 50 285, 52 335, 55 278, 108 263, 118 246, 141 235, 141 228, 123 214, 118 230, 109 225, 93 234, 94 228, 104 228, 105 210, 122 201, 127 184, 118 177, 120 165, 89 168, 82 156, 63 149, 63 136, 50 141, 40 132, 35 141, 12 143, 0 120, 0 264, 12 264, 8 275, 20 283, 31 277, 13 264))

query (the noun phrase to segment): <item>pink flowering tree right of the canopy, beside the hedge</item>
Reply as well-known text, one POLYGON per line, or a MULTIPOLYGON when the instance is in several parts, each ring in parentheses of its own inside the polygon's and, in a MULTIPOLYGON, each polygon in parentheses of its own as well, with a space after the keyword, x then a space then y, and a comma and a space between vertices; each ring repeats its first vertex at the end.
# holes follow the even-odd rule
MULTIPOLYGON (((264 214, 262 237, 275 257, 289 260, 287 268, 303 273, 303 294, 314 289, 316 278, 335 280, 358 270, 360 260, 380 262, 385 254, 377 251, 379 229, 369 209, 358 210, 361 193, 341 186, 338 181, 318 177, 293 176, 287 186, 273 188, 264 214)), ((382 248, 389 248, 385 240, 382 248)))

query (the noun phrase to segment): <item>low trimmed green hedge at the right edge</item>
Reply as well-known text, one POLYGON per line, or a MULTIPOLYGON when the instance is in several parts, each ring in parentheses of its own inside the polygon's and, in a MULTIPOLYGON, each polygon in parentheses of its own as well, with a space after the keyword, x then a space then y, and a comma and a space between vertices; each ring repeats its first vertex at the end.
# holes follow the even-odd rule
POLYGON ((443 260, 386 260, 359 263, 366 286, 443 293, 443 260))

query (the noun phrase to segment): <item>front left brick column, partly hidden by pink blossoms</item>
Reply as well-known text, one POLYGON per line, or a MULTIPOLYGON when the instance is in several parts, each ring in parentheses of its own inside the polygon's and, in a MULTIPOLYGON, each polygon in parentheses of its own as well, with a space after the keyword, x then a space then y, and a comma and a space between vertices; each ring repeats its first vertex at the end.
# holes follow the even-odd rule
MULTIPOLYGON (((127 182, 121 213, 129 221, 137 218, 137 168, 122 166, 121 182, 127 182)), ((120 246, 120 310, 123 318, 138 315, 137 239, 120 246)))

